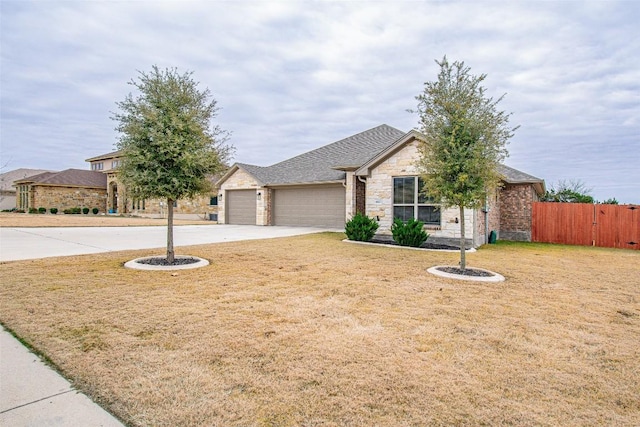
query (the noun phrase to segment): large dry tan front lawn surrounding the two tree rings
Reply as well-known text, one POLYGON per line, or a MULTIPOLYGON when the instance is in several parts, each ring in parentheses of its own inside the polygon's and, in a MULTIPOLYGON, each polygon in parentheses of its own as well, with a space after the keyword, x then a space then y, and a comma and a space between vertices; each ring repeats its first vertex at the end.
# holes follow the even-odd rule
POLYGON ((640 425, 640 252, 325 233, 0 264, 0 321, 132 426, 640 425))

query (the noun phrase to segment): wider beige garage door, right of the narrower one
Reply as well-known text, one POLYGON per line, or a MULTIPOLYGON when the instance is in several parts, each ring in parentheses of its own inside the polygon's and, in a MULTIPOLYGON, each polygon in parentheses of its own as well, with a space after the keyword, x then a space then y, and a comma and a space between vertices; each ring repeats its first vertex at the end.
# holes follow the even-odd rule
POLYGON ((345 189, 338 186, 275 190, 275 225, 344 228, 345 189))

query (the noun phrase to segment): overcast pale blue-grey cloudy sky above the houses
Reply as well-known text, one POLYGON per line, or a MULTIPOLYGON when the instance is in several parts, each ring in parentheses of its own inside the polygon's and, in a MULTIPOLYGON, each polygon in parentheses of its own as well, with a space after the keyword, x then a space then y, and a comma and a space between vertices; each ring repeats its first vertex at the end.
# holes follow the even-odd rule
POLYGON ((152 65, 193 71, 235 161, 418 125, 436 59, 487 74, 506 164, 640 203, 640 1, 0 0, 2 171, 88 168, 152 65))

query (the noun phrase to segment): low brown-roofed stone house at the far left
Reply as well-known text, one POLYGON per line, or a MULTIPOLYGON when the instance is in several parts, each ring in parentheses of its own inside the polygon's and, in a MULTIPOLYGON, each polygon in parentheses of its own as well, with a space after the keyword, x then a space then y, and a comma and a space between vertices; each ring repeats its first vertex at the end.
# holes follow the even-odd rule
POLYGON ((107 177, 104 174, 67 169, 43 172, 14 181, 17 190, 16 208, 27 212, 30 208, 98 208, 104 212, 107 196, 107 177))

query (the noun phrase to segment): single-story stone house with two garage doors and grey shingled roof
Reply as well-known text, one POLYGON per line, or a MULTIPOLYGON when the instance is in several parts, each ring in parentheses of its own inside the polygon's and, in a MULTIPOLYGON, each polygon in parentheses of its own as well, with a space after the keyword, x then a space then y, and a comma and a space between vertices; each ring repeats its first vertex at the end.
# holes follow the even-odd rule
MULTIPOLYGON (((390 234, 394 217, 417 218, 431 241, 457 241, 459 210, 419 194, 419 137, 381 125, 272 166, 236 163, 217 183, 218 221, 343 229, 361 212, 378 220, 380 234, 390 234)), ((465 210, 469 245, 484 243, 489 230, 530 240, 531 203, 544 192, 544 181, 507 166, 501 173, 504 186, 487 209, 465 210)))

